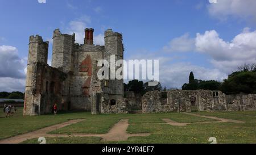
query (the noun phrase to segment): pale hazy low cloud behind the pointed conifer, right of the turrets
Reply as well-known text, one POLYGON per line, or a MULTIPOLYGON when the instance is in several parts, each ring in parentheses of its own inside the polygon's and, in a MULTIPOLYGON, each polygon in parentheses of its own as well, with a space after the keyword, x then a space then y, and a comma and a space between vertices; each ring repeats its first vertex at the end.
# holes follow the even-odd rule
MULTIPOLYGON (((177 60, 177 57, 162 56, 160 52, 150 53, 148 51, 141 51, 139 53, 142 54, 133 55, 129 59, 159 60, 159 81, 162 86, 167 88, 180 89, 184 83, 188 82, 188 76, 191 71, 195 74, 195 78, 203 80, 214 79, 222 81, 228 76, 217 68, 205 68, 204 66, 193 65, 190 62, 174 63, 173 60, 177 60)), ((130 74, 130 71, 128 70, 128 74, 130 74)), ((141 73, 144 72, 146 71, 141 70, 141 73)))

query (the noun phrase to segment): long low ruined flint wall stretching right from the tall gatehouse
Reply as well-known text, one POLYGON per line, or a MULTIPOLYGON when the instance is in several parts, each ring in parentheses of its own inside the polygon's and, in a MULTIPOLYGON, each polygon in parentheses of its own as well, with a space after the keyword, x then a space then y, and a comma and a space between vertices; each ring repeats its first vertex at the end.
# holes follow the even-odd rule
POLYGON ((225 95, 221 91, 150 91, 142 97, 142 112, 255 111, 256 94, 225 95))

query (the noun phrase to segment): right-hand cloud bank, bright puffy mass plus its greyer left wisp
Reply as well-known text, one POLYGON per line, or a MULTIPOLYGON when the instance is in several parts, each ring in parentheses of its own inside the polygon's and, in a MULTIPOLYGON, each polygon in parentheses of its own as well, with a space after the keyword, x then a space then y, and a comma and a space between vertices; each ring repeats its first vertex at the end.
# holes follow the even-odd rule
POLYGON ((170 52, 195 51, 209 55, 209 62, 215 68, 230 74, 237 66, 256 62, 256 31, 244 28, 230 41, 223 40, 215 30, 197 33, 195 38, 185 34, 172 39, 163 49, 170 52))

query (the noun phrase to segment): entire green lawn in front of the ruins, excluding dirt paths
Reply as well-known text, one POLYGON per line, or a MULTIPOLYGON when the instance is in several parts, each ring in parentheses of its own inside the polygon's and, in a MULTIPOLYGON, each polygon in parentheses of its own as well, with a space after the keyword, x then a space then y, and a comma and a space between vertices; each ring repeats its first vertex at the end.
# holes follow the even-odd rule
MULTIPOLYGON (((151 133, 147 137, 130 137, 127 141, 114 143, 209 143, 209 137, 216 137, 218 143, 256 143, 256 112, 195 112, 195 114, 218 116, 220 118, 242 120, 246 123, 208 123, 188 124, 176 127, 164 123, 163 118, 170 118, 180 123, 214 122, 216 120, 190 116, 186 114, 116 114, 90 115, 89 112, 71 112, 58 115, 22 116, 11 118, 0 115, 0 139, 34 131, 49 125, 63 123, 68 119, 85 120, 51 133, 107 133, 120 119, 129 119, 128 133, 151 133)), ((100 137, 46 137, 47 143, 101 143, 100 137)), ((24 143, 38 143, 37 139, 24 143)))

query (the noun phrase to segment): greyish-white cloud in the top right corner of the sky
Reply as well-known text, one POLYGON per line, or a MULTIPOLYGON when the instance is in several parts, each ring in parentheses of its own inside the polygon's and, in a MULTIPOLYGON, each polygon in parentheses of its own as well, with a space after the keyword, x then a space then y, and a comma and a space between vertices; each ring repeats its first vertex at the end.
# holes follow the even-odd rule
POLYGON ((255 0, 218 0, 208 6, 209 14, 225 20, 229 16, 256 21, 255 0))

